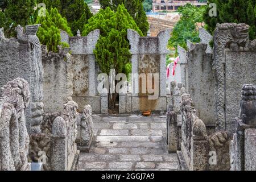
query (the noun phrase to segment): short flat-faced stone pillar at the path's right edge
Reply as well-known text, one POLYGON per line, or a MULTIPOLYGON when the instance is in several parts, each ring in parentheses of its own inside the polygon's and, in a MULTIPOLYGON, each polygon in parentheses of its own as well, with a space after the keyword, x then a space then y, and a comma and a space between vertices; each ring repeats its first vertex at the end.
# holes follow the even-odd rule
POLYGON ((168 152, 177 152, 177 143, 179 140, 177 129, 177 114, 174 111, 167 112, 167 144, 168 152))

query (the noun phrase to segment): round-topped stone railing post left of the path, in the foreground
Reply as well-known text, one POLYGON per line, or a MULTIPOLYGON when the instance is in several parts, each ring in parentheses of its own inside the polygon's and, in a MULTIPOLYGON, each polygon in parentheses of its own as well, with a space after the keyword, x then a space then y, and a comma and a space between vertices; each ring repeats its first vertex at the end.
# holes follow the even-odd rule
POLYGON ((51 166, 54 171, 68 170, 67 122, 57 117, 52 125, 52 158, 51 166))

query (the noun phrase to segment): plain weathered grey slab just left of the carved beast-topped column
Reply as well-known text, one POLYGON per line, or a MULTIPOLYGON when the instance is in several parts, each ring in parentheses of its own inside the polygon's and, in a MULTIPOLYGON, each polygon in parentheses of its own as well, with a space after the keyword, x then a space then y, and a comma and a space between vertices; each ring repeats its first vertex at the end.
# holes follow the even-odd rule
POLYGON ((207 44, 198 43, 188 51, 188 90, 195 103, 197 116, 206 125, 214 125, 214 74, 212 53, 207 44))

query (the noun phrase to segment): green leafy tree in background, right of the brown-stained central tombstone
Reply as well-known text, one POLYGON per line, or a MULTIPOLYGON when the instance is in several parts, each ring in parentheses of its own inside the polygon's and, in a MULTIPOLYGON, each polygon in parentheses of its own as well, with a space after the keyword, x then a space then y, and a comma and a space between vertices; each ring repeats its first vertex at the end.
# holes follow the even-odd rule
POLYGON ((181 16, 176 23, 169 40, 169 47, 181 46, 187 48, 187 40, 200 42, 197 23, 203 23, 204 6, 196 7, 191 4, 181 6, 178 12, 181 16))

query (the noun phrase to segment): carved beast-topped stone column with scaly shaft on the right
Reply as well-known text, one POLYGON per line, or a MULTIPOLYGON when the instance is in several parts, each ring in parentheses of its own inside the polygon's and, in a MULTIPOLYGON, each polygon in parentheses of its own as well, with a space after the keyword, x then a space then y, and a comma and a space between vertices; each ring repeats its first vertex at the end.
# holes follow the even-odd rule
POLYGON ((216 72, 215 88, 215 116, 216 129, 225 130, 225 60, 223 52, 225 48, 237 50, 239 46, 245 47, 248 42, 249 26, 245 23, 217 24, 214 31, 214 56, 213 69, 216 72))

